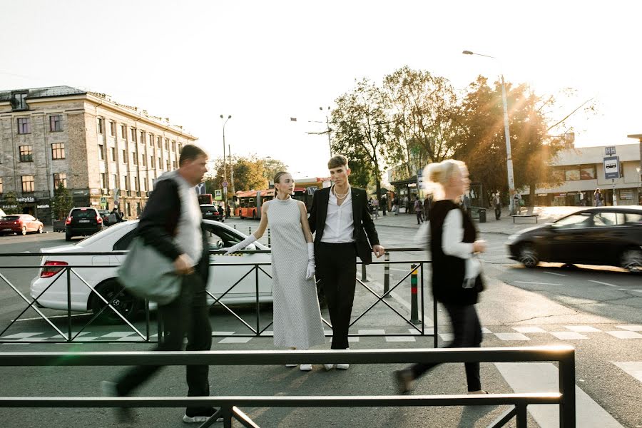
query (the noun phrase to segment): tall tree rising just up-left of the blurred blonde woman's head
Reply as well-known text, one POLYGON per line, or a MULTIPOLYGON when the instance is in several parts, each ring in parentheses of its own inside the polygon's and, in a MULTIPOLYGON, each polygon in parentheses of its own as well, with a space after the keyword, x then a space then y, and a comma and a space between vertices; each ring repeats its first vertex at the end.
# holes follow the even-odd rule
POLYGON ((459 106, 447 78, 404 66, 384 77, 384 91, 394 121, 391 153, 408 177, 417 165, 452 156, 459 106))

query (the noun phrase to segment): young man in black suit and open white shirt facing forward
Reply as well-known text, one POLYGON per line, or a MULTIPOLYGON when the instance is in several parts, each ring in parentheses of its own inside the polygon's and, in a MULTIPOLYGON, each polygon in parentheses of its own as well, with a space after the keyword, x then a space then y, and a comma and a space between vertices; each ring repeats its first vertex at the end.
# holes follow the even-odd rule
MULTIPOLYGON (((362 263, 372 263, 385 253, 368 213, 366 191, 350 187, 347 158, 334 156, 327 163, 332 187, 317 190, 310 208, 310 230, 315 235, 317 277, 321 280, 332 322, 332 349, 348 347, 348 328, 355 300, 357 255, 362 263)), ((325 365, 331 370, 335 365, 325 365)), ((346 370, 350 365, 337 364, 346 370)))

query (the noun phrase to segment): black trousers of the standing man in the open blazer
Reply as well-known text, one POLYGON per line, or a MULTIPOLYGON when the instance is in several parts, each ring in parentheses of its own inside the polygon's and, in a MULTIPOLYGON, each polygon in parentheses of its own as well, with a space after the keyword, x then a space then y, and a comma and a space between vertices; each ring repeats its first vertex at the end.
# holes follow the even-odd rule
POLYGON ((320 277, 332 323, 332 349, 345 350, 350 328, 352 302, 357 281, 355 243, 319 243, 315 253, 317 277, 320 277))

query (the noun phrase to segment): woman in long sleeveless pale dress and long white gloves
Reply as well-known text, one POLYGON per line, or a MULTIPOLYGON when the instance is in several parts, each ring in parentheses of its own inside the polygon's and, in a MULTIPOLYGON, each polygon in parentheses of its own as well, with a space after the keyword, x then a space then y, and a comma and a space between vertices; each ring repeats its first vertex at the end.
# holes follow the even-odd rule
MULTIPOLYGON (((261 205, 257 230, 225 254, 241 250, 260 239, 270 225, 272 231, 272 295, 274 345, 307 350, 325 343, 325 332, 315 282, 315 248, 307 223, 305 203, 292 198, 292 175, 274 177, 275 198, 261 205)), ((296 365, 286 365, 296 367, 296 365)), ((311 364, 300 370, 312 370, 311 364)))

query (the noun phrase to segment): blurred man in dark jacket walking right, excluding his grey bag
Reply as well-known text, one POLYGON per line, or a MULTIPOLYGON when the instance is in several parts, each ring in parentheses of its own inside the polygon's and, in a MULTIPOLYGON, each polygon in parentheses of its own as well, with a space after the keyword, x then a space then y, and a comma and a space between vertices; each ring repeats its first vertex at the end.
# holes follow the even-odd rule
MULTIPOLYGON (((210 350, 212 327, 205 287, 208 282, 208 239, 202 228, 195 185, 207 172, 208 156, 191 144, 180 151, 178 170, 161 175, 138 223, 138 236, 146 245, 173 260, 175 272, 183 277, 178 297, 158 306, 161 337, 158 351, 179 351, 188 337, 188 351, 210 350)), ((125 397, 141 387, 162 366, 138 366, 127 370, 116 382, 103 382, 105 394, 125 397)), ((210 394, 208 365, 188 365, 186 378, 189 397, 210 394)), ((213 407, 191 406, 185 409, 183 422, 205 422, 215 414, 213 407)), ((133 415, 121 409, 121 419, 133 415)))

